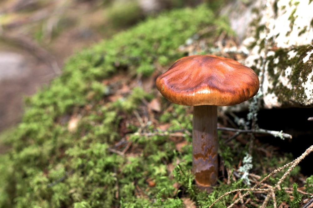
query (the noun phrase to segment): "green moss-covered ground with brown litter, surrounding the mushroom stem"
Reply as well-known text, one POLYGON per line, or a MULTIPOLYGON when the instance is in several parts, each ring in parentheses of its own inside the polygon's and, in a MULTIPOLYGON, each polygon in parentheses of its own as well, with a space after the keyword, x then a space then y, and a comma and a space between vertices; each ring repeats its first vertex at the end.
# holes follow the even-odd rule
MULTIPOLYGON (((22 122, 1 134, 12 148, 0 156, 0 207, 208 207, 227 191, 249 187, 234 173, 251 148, 252 183, 290 162, 292 155, 278 154, 258 137, 250 145, 251 135, 229 140, 233 133, 219 132, 218 186, 207 194, 193 183, 192 108, 163 99, 154 81, 186 55, 178 48, 188 38, 211 28, 206 38, 213 45, 230 31, 227 25, 204 5, 177 9, 72 56, 62 75, 26 98, 22 122)), ((289 192, 275 192, 278 204, 300 207, 313 193, 312 177, 303 186, 298 171, 281 184, 289 192)), ((260 205, 264 193, 236 206, 260 205)), ((239 196, 229 194, 214 207, 239 196)))

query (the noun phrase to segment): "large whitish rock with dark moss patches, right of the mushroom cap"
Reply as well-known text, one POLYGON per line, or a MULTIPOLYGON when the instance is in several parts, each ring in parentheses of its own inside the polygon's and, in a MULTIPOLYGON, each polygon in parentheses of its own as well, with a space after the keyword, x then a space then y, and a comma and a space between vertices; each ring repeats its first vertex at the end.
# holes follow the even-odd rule
POLYGON ((241 44, 241 63, 260 78, 263 107, 313 107, 313 2, 232 2, 228 14, 241 44))

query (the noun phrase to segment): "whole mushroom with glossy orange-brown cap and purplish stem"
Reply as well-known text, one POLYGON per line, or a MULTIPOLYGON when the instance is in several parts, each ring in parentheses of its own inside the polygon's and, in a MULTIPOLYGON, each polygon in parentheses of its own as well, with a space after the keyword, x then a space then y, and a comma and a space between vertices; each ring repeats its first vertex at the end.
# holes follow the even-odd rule
POLYGON ((192 172, 198 188, 210 192, 218 177, 217 106, 252 98, 259 90, 258 76, 232 59, 193 55, 159 75, 156 88, 172 103, 193 106, 192 172))

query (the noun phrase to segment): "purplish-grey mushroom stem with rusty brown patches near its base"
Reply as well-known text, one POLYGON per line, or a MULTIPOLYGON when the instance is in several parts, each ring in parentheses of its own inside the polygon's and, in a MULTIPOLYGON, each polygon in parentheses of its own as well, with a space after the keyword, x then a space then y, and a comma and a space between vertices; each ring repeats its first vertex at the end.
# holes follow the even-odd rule
POLYGON ((196 185, 211 192, 218 177, 217 106, 193 107, 192 172, 196 185))

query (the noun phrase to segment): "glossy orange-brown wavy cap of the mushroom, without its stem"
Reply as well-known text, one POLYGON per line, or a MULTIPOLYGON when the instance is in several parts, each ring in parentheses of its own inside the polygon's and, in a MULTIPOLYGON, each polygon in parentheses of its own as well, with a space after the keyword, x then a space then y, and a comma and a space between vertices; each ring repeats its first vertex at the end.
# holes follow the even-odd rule
POLYGON ((229 106, 252 98, 259 90, 259 78, 235 60, 193 55, 178 59, 158 76, 156 88, 179 105, 229 106))

